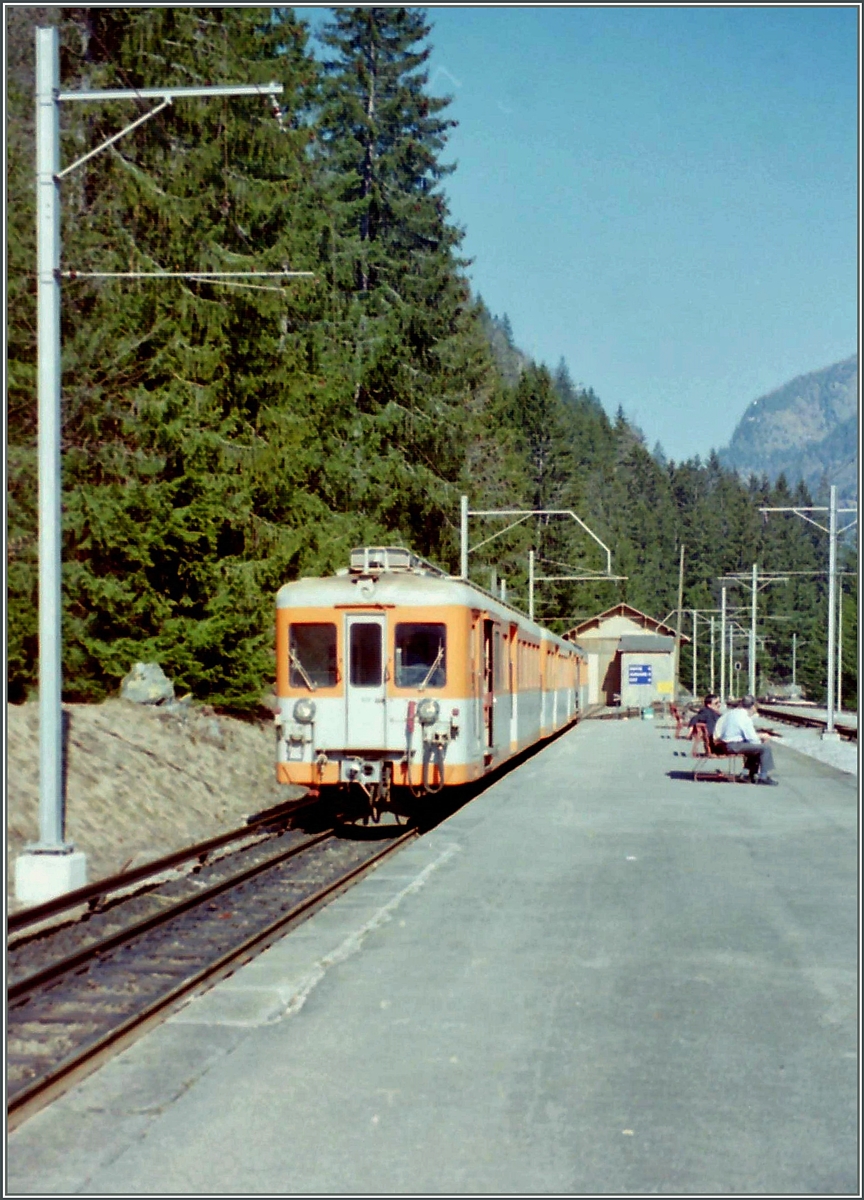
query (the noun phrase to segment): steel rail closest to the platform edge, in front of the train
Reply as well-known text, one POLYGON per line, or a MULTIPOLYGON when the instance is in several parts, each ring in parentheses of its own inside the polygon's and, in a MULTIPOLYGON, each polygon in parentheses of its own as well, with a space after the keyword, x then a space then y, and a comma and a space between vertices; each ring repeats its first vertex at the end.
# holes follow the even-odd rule
POLYGON ((335 880, 326 887, 322 888, 314 895, 307 896, 295 905, 289 912, 283 913, 276 920, 271 922, 265 929, 259 930, 257 934, 252 934, 246 941, 241 942, 240 946, 234 947, 234 949, 228 950, 215 962, 196 972, 190 978, 185 979, 182 983, 178 984, 169 992, 166 992, 158 1000, 148 1004, 140 1013, 134 1016, 128 1018, 121 1025, 110 1030, 108 1033, 103 1034, 96 1042, 85 1046, 84 1049, 73 1051, 62 1062, 50 1070, 47 1075, 43 1075, 40 1080, 34 1080, 28 1087, 22 1088, 16 1096, 13 1096, 7 1105, 7 1129, 11 1132, 16 1129, 23 1121, 26 1120, 37 1109, 43 1108, 50 1100, 55 1099, 58 1096, 62 1094, 72 1084, 78 1082, 84 1079, 91 1072, 96 1070, 97 1067, 102 1064, 108 1057, 118 1054, 120 1050, 131 1045, 132 1042, 137 1040, 143 1033, 145 1033, 154 1025, 161 1024, 167 1015, 167 1009, 172 1009, 180 1000, 182 1000, 190 991, 199 986, 202 983, 216 983, 220 974, 228 973, 229 968, 233 970, 238 959, 244 959, 251 956, 253 953, 260 953, 265 949, 270 941, 274 941, 280 931, 288 925, 290 922, 296 920, 310 908, 326 900, 340 888, 343 888, 347 883, 350 883, 356 876, 361 875, 364 871, 370 870, 388 854, 394 853, 407 841, 418 836, 416 829, 410 829, 408 833, 397 838, 396 841, 391 842, 384 850, 373 854, 372 858, 366 859, 365 863, 360 863, 353 870, 348 871, 341 878, 335 880))

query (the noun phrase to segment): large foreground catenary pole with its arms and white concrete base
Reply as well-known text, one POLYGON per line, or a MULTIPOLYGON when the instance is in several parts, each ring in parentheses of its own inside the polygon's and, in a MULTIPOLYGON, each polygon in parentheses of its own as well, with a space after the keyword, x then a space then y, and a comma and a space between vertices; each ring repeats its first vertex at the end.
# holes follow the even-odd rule
MULTIPOLYGON (((65 840, 62 769, 61 653, 61 475, 60 475, 60 180, 83 162, 186 96, 280 94, 281 84, 208 88, 142 88, 107 91, 60 91, 56 28, 36 30, 36 308, 38 394, 38 637, 40 637, 40 840, 16 862, 16 895, 38 904, 86 882, 86 858, 65 840), (64 101, 161 100, 120 133, 60 169, 60 103, 64 101)), ((68 272, 66 272, 68 274, 68 272)), ((116 277, 121 272, 79 272, 82 277, 116 277)), ((124 277, 166 277, 169 272, 122 272, 124 277)), ((174 275, 194 272, 174 272, 174 275)), ((304 274, 312 272, 208 272, 304 274)))

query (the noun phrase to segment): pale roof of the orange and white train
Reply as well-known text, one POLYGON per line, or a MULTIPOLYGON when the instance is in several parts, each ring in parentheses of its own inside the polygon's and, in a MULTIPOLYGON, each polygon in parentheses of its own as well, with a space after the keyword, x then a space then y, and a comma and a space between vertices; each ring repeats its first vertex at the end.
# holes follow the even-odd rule
POLYGON ((402 547, 386 547, 386 554, 377 547, 355 550, 352 551, 352 563, 350 568, 337 571, 336 575, 284 583, 276 593, 276 607, 332 608, 368 604, 371 607, 439 605, 482 608, 500 620, 515 620, 521 629, 538 638, 552 641, 578 654, 584 653, 581 647, 530 620, 526 613, 499 600, 491 592, 458 576, 446 575, 402 547))

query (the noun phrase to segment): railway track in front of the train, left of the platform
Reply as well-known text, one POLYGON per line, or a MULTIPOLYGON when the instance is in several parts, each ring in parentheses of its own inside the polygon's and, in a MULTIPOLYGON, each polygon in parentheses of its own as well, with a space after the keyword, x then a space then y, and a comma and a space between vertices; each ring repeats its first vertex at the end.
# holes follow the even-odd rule
MULTIPOLYGON (((382 848, 383 833, 348 839, 336 828, 283 829, 194 875, 19 937, 7 962, 8 1128, 254 958, 418 830, 382 848)), ((26 913, 16 917, 22 928, 26 913)))

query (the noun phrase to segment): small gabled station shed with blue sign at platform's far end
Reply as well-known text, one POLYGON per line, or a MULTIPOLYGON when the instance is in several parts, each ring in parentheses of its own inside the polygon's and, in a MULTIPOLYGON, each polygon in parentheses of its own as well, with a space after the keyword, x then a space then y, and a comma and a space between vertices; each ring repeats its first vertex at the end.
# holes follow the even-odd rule
POLYGON ((642 708, 673 698, 676 631, 661 620, 617 604, 564 637, 578 642, 588 659, 589 704, 642 708))

